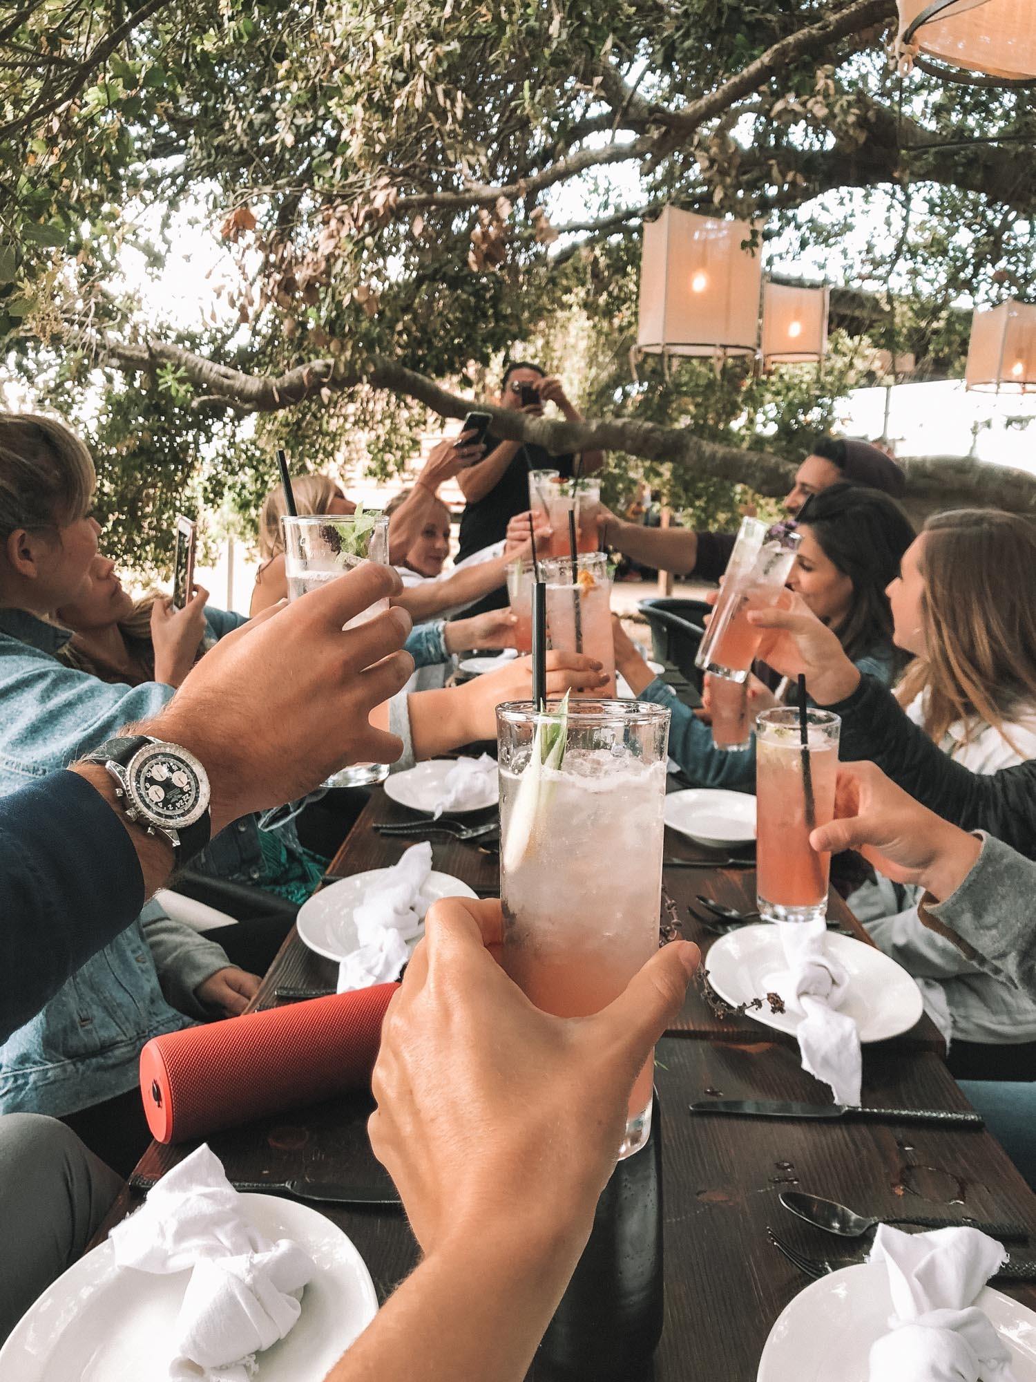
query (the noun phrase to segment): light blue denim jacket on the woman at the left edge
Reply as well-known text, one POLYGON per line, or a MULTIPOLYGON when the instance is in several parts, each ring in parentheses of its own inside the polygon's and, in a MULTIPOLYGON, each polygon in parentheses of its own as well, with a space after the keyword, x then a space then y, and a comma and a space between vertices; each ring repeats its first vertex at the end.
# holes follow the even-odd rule
MULTIPOLYGON (((214 638, 243 622, 215 609, 206 618, 214 638)), ((66 630, 30 614, 0 609, 0 795, 68 766, 173 695, 155 681, 111 685, 66 668, 54 654, 68 638, 66 630)), ((238 882, 258 879, 256 818, 222 831, 192 867, 238 882)), ((152 948, 148 933, 156 940, 175 925, 153 902, 145 907, 8 1038, 0 1048, 0 1111, 69 1114, 134 1088, 144 1043, 191 1021, 170 1006, 162 984, 182 1003, 186 991, 227 963, 220 947, 202 937, 195 944, 166 936, 173 944, 164 956, 160 943, 152 948), (169 965, 160 974, 163 959, 169 965)))

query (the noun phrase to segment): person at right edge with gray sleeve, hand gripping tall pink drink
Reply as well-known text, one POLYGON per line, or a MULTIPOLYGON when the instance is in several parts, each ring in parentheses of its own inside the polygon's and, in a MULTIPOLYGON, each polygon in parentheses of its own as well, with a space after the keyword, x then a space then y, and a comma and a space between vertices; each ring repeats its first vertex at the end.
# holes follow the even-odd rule
MULTIPOLYGON (((885 878, 917 887, 927 927, 1036 1002, 1032 860, 992 835, 968 835, 943 821, 873 763, 838 767, 834 817, 814 831, 815 850, 859 850, 885 878)), ((961 1081, 961 1089, 1036 1189, 1036 1085, 961 1081)))

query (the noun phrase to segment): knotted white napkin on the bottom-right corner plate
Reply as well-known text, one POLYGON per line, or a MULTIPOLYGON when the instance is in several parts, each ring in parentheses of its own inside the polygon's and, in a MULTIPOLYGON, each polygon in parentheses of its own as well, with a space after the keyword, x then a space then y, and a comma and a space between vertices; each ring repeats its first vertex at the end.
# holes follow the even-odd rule
POLYGON ((1007 1253, 978 1229, 901 1233, 879 1224, 891 1334, 870 1347, 870 1382, 1011 1382, 1011 1353, 972 1302, 1007 1253))

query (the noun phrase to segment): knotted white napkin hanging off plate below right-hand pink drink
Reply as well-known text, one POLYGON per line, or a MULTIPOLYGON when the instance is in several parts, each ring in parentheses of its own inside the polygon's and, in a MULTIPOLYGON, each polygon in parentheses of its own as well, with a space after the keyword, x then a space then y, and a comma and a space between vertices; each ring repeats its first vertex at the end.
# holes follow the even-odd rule
POLYGON ((858 1104, 862 1079, 859 1031, 840 1013, 848 973, 827 955, 827 927, 816 922, 778 922, 786 969, 767 980, 792 1013, 803 1013, 796 1030, 803 1070, 829 1085, 836 1104, 858 1104))

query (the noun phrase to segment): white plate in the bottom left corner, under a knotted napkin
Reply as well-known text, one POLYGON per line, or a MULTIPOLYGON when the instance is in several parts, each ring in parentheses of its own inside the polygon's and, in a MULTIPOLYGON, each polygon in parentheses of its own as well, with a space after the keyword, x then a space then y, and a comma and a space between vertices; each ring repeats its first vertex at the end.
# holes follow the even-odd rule
MULTIPOLYGON (((243 1194, 250 1222, 268 1238, 291 1238, 316 1263, 294 1329, 257 1356, 256 1382, 322 1378, 377 1313, 370 1273, 352 1242, 308 1205, 243 1194)), ((173 1325, 191 1280, 115 1270, 99 1244, 58 1277, 0 1350, 4 1382, 167 1382, 173 1325)))

